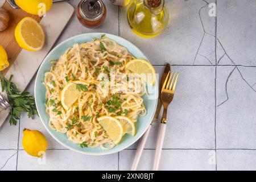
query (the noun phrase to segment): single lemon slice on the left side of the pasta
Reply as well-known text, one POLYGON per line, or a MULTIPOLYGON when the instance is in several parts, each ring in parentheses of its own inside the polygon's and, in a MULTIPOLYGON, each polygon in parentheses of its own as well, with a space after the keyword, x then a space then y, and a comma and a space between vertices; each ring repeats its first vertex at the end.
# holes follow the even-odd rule
POLYGON ((89 85, 85 81, 72 81, 69 82, 61 91, 60 94, 60 101, 61 105, 64 107, 65 110, 68 110, 69 107, 71 107, 79 98, 81 94, 81 90, 77 89, 77 84, 82 84, 82 85, 89 85))

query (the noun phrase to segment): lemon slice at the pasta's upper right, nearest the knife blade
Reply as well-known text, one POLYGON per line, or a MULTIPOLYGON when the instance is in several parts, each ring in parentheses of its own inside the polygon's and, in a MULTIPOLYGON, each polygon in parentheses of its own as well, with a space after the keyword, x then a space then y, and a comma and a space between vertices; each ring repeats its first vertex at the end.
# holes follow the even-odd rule
MULTIPOLYGON (((151 85, 155 83, 155 68, 147 60, 133 59, 125 64, 125 69, 133 73, 138 73, 139 75, 144 74, 146 76, 145 81, 151 85)), ((144 76, 143 78, 145 78, 144 76)))

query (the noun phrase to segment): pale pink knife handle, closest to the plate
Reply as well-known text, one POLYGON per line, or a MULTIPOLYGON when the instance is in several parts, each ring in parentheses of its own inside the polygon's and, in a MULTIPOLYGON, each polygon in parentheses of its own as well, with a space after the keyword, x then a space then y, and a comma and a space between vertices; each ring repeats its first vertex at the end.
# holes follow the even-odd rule
POLYGON ((144 146, 147 142, 148 134, 150 133, 151 125, 148 127, 146 133, 142 136, 141 140, 139 140, 138 148, 136 154, 133 159, 133 165, 131 166, 131 171, 136 171, 137 166, 139 164, 139 160, 141 159, 141 155, 144 149, 144 146))

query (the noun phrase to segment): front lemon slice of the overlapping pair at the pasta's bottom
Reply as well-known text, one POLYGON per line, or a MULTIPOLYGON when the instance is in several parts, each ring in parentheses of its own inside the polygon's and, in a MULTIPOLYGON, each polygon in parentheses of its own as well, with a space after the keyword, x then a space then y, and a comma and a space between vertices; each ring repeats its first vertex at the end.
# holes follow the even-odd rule
POLYGON ((104 116, 98 118, 98 122, 109 135, 109 138, 113 140, 115 144, 118 144, 123 137, 123 127, 118 119, 110 116, 104 116))

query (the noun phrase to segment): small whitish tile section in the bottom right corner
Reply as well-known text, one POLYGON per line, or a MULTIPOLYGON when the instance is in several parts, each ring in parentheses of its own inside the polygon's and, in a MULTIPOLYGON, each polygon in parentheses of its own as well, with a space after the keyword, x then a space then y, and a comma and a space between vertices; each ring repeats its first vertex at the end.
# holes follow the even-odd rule
POLYGON ((218 150, 217 170, 220 171, 255 171, 255 150, 218 150))

